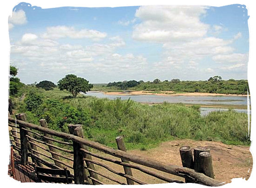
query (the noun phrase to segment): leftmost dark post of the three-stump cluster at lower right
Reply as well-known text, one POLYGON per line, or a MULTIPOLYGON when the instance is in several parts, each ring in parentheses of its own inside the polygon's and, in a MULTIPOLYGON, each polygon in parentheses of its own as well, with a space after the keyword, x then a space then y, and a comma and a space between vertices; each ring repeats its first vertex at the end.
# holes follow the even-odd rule
MULTIPOLYGON (((180 148, 180 155, 182 159, 182 166, 194 169, 194 161, 191 148, 189 146, 182 146, 180 148)), ((189 177, 186 177, 185 182, 192 183, 193 181, 189 177)))

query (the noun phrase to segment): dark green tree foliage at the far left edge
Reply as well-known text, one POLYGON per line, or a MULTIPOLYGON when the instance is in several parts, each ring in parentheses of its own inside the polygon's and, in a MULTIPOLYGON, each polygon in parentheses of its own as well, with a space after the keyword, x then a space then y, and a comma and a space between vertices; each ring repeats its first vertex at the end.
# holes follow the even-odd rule
POLYGON ((15 77, 17 74, 18 74, 18 69, 16 67, 10 66, 9 94, 11 96, 17 95, 20 88, 24 86, 24 84, 20 82, 20 79, 15 77))

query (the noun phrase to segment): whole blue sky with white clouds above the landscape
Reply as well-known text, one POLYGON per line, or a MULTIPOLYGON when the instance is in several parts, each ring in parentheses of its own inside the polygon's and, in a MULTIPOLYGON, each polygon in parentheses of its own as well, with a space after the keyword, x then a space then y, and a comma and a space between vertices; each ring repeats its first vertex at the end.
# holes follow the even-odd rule
POLYGON ((75 74, 90 83, 247 79, 244 5, 36 7, 9 18, 10 64, 25 84, 75 74))

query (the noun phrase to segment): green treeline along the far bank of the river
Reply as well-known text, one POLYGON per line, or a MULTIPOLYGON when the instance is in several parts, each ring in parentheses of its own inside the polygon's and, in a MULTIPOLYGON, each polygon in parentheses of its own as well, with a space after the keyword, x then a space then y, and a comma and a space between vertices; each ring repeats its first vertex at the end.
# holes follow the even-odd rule
POLYGON ((126 81, 108 83, 107 87, 115 86, 119 89, 145 90, 145 91, 177 91, 177 92, 199 92, 218 94, 247 94, 249 85, 247 80, 222 80, 221 76, 210 77, 207 81, 126 81), (134 83, 133 86, 127 83, 134 83))

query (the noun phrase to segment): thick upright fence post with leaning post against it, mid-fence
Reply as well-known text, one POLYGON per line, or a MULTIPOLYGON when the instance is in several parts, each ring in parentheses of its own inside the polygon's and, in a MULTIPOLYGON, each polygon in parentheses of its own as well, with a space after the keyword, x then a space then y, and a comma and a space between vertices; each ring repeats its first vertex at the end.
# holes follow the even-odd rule
MULTIPOLYGON (((70 134, 74 134, 75 136, 79 136, 79 137, 83 138, 82 125, 70 124, 70 125, 68 125, 68 130, 69 130, 70 134)), ((84 154, 80 150, 80 148, 83 148, 83 149, 86 149, 86 150, 88 150, 88 148, 85 145, 80 144, 80 143, 76 143, 76 142, 73 142, 73 147, 74 147, 74 165, 75 165, 75 161, 77 161, 79 163, 79 165, 81 165, 82 168, 83 168, 82 179, 86 179, 89 184, 99 185, 99 183, 97 181, 94 181, 94 180, 91 180, 91 179, 88 178, 88 176, 90 176, 90 177, 98 180, 98 175, 95 174, 94 172, 88 171, 88 170, 86 170, 84 168, 84 166, 85 166, 84 163, 86 163, 86 166, 88 168, 92 168, 93 170, 95 170, 93 163, 88 162, 88 161, 84 162, 82 160, 83 158, 88 158, 88 159, 92 160, 92 156, 91 155, 84 154), (75 154, 76 154, 76 159, 75 159, 75 154)), ((74 167, 74 172, 75 172, 75 167, 74 167)), ((75 174, 74 174, 74 176, 75 176, 75 174)))

